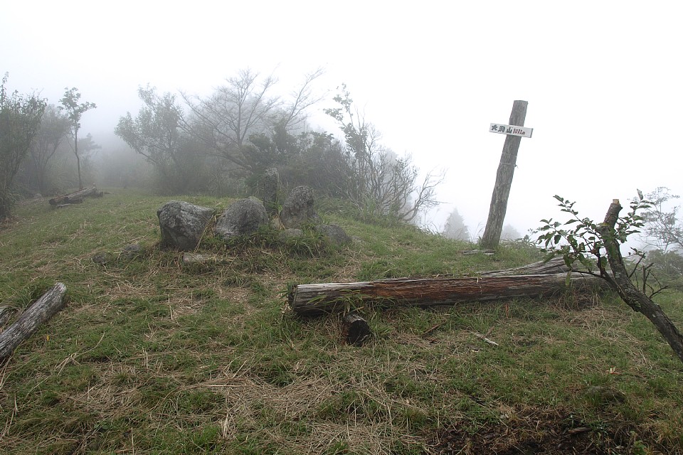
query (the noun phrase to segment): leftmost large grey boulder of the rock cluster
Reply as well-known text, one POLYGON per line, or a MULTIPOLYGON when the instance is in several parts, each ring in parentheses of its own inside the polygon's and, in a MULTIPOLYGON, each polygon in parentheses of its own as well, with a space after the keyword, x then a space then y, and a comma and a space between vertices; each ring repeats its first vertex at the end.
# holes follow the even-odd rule
POLYGON ((157 210, 157 216, 162 245, 188 251, 197 247, 213 216, 213 209, 171 200, 157 210))

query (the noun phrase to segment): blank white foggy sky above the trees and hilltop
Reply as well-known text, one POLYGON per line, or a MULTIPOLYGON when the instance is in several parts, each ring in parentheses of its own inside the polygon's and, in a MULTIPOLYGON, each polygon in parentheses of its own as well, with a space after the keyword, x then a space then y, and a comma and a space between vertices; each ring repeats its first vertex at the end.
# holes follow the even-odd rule
MULTIPOLYGON (((0 6, 0 73, 58 104, 78 87, 95 141, 139 109, 137 87, 208 95, 244 68, 287 92, 323 66, 398 154, 446 168, 430 220, 455 206, 482 235, 514 100, 526 127, 506 223, 561 218, 552 196, 602 220, 613 198, 683 195, 683 2, 14 1, 0 6)), ((333 131, 322 114, 314 121, 333 131)), ((336 132, 336 131, 335 131, 336 132)))

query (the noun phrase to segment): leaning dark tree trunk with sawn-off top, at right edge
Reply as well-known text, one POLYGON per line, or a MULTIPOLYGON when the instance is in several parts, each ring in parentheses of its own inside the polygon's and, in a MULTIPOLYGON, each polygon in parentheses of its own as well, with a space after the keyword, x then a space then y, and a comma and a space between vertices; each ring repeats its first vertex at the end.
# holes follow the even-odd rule
POLYGON ((634 311, 644 314, 647 319, 650 319, 655 324, 657 330, 660 331, 667 343, 669 343, 669 346, 674 350, 674 353, 683 362, 683 337, 681 333, 665 312, 662 311, 662 308, 633 285, 628 275, 619 248, 619 242, 613 235, 621 208, 619 200, 615 199, 607 210, 604 223, 598 227, 598 232, 600 232, 600 236, 603 242, 605 242, 607 259, 612 269, 612 274, 605 275, 605 278, 628 306, 634 311))

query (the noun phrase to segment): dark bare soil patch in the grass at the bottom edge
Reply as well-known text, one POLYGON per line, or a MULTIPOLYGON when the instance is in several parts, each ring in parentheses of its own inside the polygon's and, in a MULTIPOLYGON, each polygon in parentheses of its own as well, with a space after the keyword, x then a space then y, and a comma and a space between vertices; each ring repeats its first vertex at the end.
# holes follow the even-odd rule
MULTIPOLYGON (((633 434, 626 424, 589 424, 563 410, 516 410, 500 422, 476 430, 466 422, 430 441, 433 455, 631 454, 633 434)), ((636 443, 637 444, 637 443, 636 443)))

